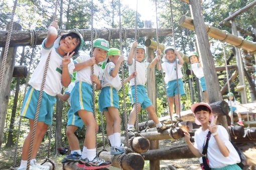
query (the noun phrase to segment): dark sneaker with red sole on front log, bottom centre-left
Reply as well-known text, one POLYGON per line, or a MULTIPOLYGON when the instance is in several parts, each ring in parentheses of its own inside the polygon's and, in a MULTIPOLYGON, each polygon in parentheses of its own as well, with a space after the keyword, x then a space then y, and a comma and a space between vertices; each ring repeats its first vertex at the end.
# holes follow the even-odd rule
POLYGON ((105 168, 111 165, 110 161, 105 161, 104 159, 99 158, 98 156, 94 157, 92 161, 89 161, 87 158, 79 159, 77 163, 78 167, 83 167, 85 169, 100 169, 105 168))

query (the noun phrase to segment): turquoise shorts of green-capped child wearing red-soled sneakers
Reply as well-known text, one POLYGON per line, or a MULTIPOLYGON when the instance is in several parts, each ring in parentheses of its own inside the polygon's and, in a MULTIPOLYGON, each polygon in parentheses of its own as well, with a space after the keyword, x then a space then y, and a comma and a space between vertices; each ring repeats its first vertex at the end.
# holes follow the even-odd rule
POLYGON ((70 95, 71 107, 76 115, 79 110, 93 112, 92 109, 92 86, 86 82, 76 82, 70 95))

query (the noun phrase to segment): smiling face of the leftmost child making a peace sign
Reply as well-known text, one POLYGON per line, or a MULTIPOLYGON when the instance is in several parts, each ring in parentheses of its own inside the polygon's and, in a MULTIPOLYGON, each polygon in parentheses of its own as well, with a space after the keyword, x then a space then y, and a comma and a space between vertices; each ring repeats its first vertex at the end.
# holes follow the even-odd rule
POLYGON ((66 36, 64 39, 60 40, 60 46, 59 48, 68 53, 75 50, 75 48, 79 45, 80 39, 78 38, 72 38, 71 36, 66 36))

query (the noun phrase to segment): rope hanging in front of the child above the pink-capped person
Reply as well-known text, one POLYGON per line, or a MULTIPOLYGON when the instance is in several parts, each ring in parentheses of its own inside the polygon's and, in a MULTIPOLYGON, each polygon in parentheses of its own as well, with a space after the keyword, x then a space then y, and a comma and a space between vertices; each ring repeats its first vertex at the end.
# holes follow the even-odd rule
MULTIPOLYGON (((172 9, 172 0, 170 0, 170 9, 171 9, 171 23, 172 23, 172 32, 173 32, 173 47, 176 48, 176 39, 175 39, 175 29, 173 24, 173 9, 172 9)), ((181 119, 181 110, 180 110, 180 84, 178 79, 178 61, 175 58, 175 67, 176 67, 176 78, 177 78, 177 89, 178 89, 178 108, 179 108, 179 118, 181 119)), ((174 98, 175 100, 175 98, 174 98)), ((176 113, 177 114, 177 113, 176 113)))

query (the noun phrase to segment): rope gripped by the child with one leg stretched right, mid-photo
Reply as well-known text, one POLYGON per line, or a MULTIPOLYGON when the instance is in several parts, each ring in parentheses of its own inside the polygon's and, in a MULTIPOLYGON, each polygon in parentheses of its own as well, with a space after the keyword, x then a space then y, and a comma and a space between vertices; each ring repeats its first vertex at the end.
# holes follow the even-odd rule
MULTIPOLYGON (((136 2, 136 19, 135 19, 135 41, 138 41, 138 0, 136 2)), ((133 49, 132 49, 133 50, 133 49)), ((137 47, 134 49, 134 71, 136 71, 137 47)), ((137 75, 134 77, 135 85, 135 110, 136 110, 136 131, 139 131, 139 108, 138 108, 138 90, 137 90, 137 75)))

